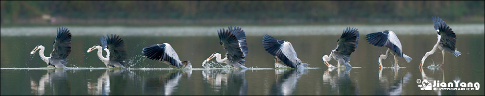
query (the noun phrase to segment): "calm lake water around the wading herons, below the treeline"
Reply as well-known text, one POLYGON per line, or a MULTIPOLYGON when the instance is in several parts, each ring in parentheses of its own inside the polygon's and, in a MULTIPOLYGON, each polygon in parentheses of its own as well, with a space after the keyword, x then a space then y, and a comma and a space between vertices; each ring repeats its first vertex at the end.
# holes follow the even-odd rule
MULTIPOLYGON (((45 45, 49 56, 57 27, 2 27, 0 95, 480 95, 485 87, 485 24, 449 25, 457 34, 456 48, 462 55, 445 54, 441 68, 418 68, 425 52, 436 44, 432 24, 424 25, 332 25, 332 26, 241 26, 246 32, 249 55, 247 70, 204 69, 202 62, 214 52, 225 53, 217 31, 226 26, 208 27, 69 27, 72 50, 65 69, 46 68, 39 54, 30 54, 45 45), (337 47, 342 30, 359 29, 359 45, 350 64, 357 68, 328 69, 322 56, 337 47), (387 48, 365 41, 372 32, 397 33, 410 63, 398 58, 405 68, 379 69, 377 59, 387 48), (108 69, 88 48, 100 45, 99 37, 118 34, 125 41, 129 60, 123 69, 108 69), (275 69, 274 57, 262 46, 269 34, 291 42, 308 69, 275 69), (181 61, 190 60, 193 69, 174 69, 142 56, 142 48, 169 43, 181 61), (478 91, 423 91, 419 80, 479 83, 478 91)), ((441 64, 438 50, 424 66, 441 64)), ((214 61, 214 60, 211 60, 214 61)), ((334 66, 335 60, 329 62, 334 66)), ((225 64, 222 64, 225 65, 225 64)), ((394 58, 383 60, 394 65, 394 58)), ((433 88, 473 88, 433 87, 433 88)))

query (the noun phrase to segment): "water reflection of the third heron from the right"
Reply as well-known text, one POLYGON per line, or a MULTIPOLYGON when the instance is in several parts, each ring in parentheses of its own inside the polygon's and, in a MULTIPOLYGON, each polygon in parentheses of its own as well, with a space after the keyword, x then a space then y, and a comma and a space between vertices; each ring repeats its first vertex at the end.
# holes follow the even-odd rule
POLYGON ((351 70, 352 68, 328 68, 323 73, 323 84, 330 84, 330 86, 332 86, 332 91, 336 92, 333 95, 359 95, 359 90, 356 87, 357 84, 352 82, 358 80, 350 80, 351 70))

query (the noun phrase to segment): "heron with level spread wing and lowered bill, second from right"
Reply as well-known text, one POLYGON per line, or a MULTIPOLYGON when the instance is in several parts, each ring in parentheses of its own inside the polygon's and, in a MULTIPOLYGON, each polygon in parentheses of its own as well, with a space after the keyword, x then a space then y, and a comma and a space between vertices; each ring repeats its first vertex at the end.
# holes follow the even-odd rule
POLYGON ((391 55, 394 55, 394 62, 395 66, 394 67, 399 67, 397 65, 397 58, 396 56, 399 57, 404 57, 406 61, 409 63, 411 60, 413 60, 411 57, 407 56, 406 54, 403 53, 403 47, 401 46, 401 41, 397 38, 396 34, 392 31, 384 31, 384 32, 374 32, 366 35, 365 40, 369 44, 372 44, 377 47, 388 47, 388 50, 386 51, 386 55, 380 55, 379 56, 379 67, 382 66, 382 59, 388 58, 388 53, 391 55))

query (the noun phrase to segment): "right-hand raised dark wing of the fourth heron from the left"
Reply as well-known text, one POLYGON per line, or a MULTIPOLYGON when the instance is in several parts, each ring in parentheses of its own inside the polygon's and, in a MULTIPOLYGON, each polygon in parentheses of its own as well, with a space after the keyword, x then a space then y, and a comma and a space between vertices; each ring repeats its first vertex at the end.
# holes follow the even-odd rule
POLYGON ((246 57, 246 55, 249 53, 249 49, 247 48, 245 32, 240 27, 236 27, 236 26, 234 26, 234 29, 232 27, 228 27, 228 28, 229 28, 229 31, 236 36, 239 46, 241 48, 242 54, 244 54, 244 57, 246 57))

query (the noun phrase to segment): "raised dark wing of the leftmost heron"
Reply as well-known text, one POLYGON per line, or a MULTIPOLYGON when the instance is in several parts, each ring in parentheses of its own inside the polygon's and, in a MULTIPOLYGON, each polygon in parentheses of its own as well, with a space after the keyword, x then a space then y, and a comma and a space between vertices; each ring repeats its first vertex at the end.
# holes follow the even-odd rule
MULTIPOLYGON (((71 53, 71 32, 67 28, 57 29, 56 40, 53 44, 52 53, 50 53, 52 60, 62 59, 67 61, 67 56, 71 53)), ((66 63, 67 64, 67 63, 66 63)))

